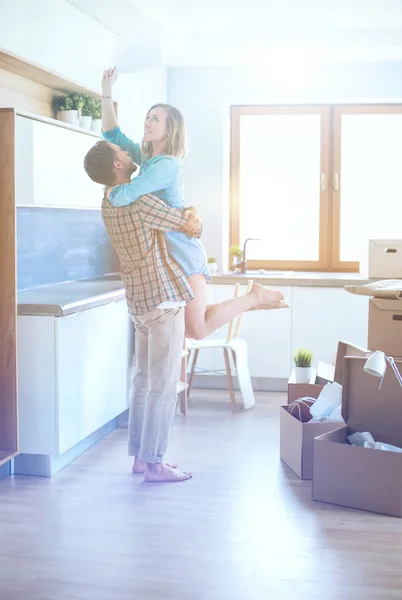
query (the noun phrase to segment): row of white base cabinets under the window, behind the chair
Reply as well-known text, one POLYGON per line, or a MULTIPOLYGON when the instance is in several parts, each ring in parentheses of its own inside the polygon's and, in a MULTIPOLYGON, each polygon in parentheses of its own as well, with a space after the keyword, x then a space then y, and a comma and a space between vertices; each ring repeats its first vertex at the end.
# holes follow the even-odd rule
MULTIPOLYGON (((287 380, 297 348, 310 348, 316 360, 332 363, 339 340, 367 346, 368 299, 349 294, 342 287, 275 286, 282 291, 288 310, 244 313, 240 336, 249 348, 251 377, 287 380)), ((241 286, 240 294, 246 286, 241 286)), ((233 297, 234 286, 208 285, 208 303, 233 297)), ((215 331, 212 339, 225 338, 228 326, 215 331)), ((221 350, 200 352, 200 369, 222 370, 221 350)), ((281 386, 281 389, 283 385, 281 386)))

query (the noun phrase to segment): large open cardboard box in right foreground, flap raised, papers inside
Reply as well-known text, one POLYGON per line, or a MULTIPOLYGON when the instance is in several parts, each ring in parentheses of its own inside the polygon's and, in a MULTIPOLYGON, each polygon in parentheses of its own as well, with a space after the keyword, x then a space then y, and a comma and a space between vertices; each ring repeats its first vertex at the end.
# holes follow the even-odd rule
MULTIPOLYGON (((388 365, 383 384, 363 370, 365 358, 346 357, 342 416, 346 425, 314 440, 313 499, 402 517, 402 454, 347 444, 369 431, 402 447, 402 388, 388 365)), ((395 361, 399 371, 402 360, 395 361)))

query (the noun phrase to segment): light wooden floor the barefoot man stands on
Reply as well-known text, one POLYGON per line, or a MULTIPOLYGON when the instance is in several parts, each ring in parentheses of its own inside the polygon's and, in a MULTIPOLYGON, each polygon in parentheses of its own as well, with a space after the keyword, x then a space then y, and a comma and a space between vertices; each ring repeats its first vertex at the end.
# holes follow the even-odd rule
POLYGON ((282 400, 232 415, 196 390, 171 443, 190 482, 132 476, 125 429, 1 482, 1 600, 401 600, 402 520, 313 503, 279 461, 282 400))

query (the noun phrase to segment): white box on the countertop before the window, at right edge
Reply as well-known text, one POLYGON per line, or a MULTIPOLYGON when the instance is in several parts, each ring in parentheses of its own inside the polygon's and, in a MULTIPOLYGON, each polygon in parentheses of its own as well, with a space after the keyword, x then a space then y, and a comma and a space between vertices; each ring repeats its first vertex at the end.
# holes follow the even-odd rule
POLYGON ((402 240, 369 240, 360 273, 369 279, 402 278, 402 240))

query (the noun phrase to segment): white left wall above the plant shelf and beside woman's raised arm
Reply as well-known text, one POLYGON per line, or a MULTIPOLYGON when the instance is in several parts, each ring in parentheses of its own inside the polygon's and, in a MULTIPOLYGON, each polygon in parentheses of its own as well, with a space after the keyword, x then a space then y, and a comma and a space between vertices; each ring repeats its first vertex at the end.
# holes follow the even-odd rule
MULTIPOLYGON (((91 90, 113 64, 120 38, 66 0, 0 0, 0 49, 91 90)), ((116 86, 122 126, 142 135, 144 115, 166 100, 166 69, 124 75, 116 86)))

